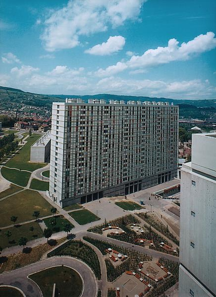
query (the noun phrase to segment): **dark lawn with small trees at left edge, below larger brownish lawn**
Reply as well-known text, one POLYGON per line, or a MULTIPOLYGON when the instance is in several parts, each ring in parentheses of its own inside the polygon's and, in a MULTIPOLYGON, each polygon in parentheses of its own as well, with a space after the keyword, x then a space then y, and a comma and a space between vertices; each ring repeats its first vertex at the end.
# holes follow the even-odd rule
MULTIPOLYGON (((14 226, 14 227, 2 229, 0 232, 1 247, 4 249, 5 247, 12 247, 14 245, 18 245, 19 239, 21 237, 26 237, 29 241, 42 236, 43 236, 43 231, 41 230, 37 222, 18 225, 18 227, 14 226), (31 226, 34 228, 33 231, 29 230, 31 226), (7 238, 7 236, 5 235, 5 233, 8 230, 12 233, 12 235, 9 238, 7 238)), ((27 243, 27 246, 28 246, 28 243, 27 243)))

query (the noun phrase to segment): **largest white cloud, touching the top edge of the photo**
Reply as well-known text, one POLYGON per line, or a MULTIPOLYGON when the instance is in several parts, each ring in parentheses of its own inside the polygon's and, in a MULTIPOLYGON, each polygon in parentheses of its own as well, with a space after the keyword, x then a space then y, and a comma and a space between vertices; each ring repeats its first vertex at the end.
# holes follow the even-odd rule
POLYGON ((41 36, 45 49, 55 51, 79 45, 79 36, 103 32, 136 19, 146 0, 70 0, 62 9, 50 11, 41 36))

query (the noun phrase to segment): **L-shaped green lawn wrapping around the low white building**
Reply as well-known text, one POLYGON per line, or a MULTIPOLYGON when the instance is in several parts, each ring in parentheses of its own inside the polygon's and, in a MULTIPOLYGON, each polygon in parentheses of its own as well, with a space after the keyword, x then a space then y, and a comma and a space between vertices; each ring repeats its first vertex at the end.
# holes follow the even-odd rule
POLYGON ((7 162, 7 167, 18 168, 22 170, 34 171, 35 169, 44 167, 46 163, 30 163, 30 150, 31 145, 40 138, 41 135, 32 134, 28 137, 27 143, 22 147, 22 149, 15 154, 15 156, 7 162))

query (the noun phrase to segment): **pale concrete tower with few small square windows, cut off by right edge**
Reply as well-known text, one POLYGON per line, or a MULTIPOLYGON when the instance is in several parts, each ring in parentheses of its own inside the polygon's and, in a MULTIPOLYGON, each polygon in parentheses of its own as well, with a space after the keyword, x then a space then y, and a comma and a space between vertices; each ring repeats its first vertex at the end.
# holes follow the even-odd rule
POLYGON ((216 133, 192 135, 182 165, 179 297, 216 296, 216 133))

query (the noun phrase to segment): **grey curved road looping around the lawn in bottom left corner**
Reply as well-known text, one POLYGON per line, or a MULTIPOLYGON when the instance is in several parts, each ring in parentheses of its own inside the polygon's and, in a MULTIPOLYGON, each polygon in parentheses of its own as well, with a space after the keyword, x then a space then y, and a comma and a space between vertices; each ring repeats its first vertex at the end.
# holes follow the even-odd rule
POLYGON ((75 269, 81 275, 84 282, 83 297, 96 296, 97 282, 94 273, 85 263, 71 257, 51 257, 13 271, 5 272, 0 275, 0 284, 18 287, 28 297, 42 297, 39 287, 28 278, 29 274, 62 265, 75 269))

